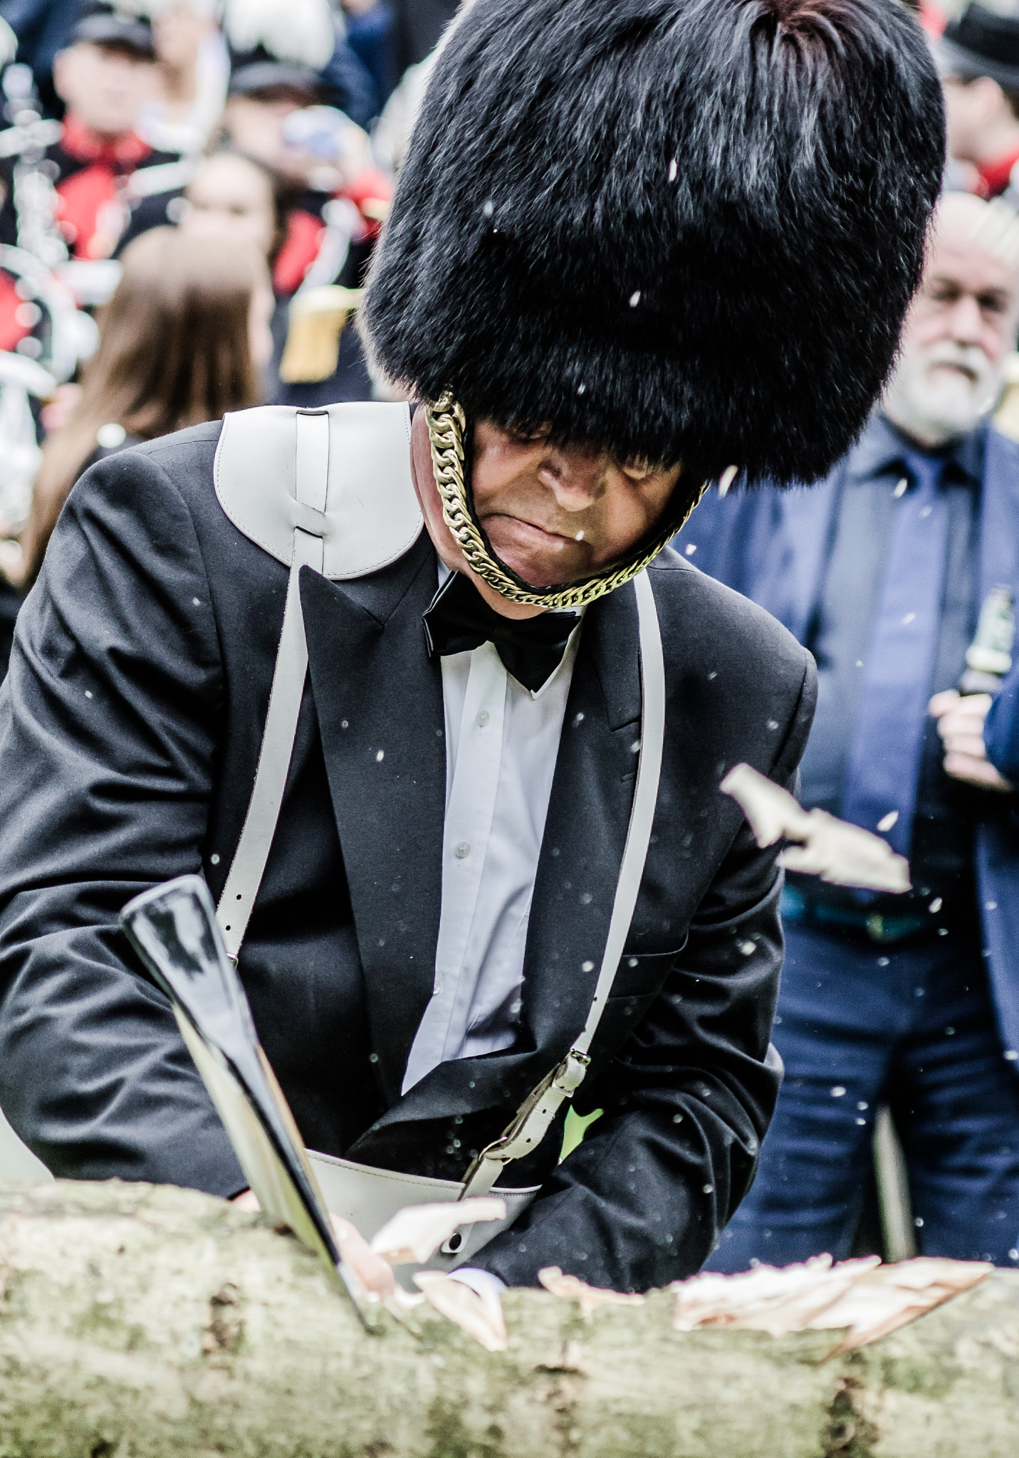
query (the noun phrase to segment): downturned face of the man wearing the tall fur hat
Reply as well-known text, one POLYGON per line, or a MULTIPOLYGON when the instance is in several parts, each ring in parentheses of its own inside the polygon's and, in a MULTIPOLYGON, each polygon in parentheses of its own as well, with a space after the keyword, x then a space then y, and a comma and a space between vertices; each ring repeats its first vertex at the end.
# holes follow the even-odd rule
MULTIPOLYGON (((462 567, 442 522, 424 411, 414 418, 414 437, 429 531, 446 564, 462 567)), ((475 513, 496 555, 535 588, 579 582, 627 557, 663 519, 679 472, 621 465, 544 436, 520 439, 488 421, 474 427, 475 513)))

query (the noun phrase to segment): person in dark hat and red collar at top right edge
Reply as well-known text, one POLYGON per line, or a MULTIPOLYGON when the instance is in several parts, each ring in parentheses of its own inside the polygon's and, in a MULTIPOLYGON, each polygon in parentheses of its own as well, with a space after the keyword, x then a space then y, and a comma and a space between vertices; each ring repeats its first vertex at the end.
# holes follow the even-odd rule
POLYGON ((933 44, 958 181, 997 197, 1019 162, 1019 4, 967 4, 933 44))

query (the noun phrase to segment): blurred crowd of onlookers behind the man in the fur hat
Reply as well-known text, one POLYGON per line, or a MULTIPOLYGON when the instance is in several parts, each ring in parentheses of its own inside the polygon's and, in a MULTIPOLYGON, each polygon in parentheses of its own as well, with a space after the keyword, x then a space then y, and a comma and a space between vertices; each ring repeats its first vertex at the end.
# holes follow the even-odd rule
MULTIPOLYGON (((350 324, 456 7, 0 0, 7 644, 92 461, 392 398, 350 324)), ((716 486, 676 542, 818 660, 803 803, 913 866, 899 898, 789 876, 786 1083, 720 1270, 1019 1264, 1019 0, 914 9, 946 191, 895 376, 829 478, 716 486)))

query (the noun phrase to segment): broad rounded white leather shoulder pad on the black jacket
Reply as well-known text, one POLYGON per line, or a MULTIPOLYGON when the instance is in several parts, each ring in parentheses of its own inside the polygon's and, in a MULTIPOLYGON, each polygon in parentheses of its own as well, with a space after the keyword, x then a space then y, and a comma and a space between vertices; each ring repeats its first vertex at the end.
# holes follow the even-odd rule
POLYGON ((325 577, 363 577, 402 557, 421 531, 410 437, 404 404, 239 410, 223 418, 216 496, 238 531, 284 566, 302 531, 321 538, 325 577))

